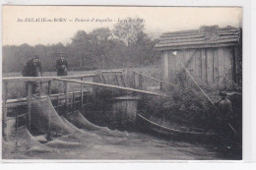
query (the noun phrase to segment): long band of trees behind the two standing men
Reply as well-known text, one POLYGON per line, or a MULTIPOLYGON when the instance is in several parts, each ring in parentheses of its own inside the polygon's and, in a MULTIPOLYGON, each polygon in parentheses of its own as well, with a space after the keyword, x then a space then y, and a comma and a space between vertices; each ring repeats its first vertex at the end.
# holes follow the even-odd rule
POLYGON ((55 71, 59 52, 64 51, 69 70, 94 70, 151 65, 160 60, 160 52, 143 32, 142 19, 127 18, 116 24, 113 30, 96 28, 91 32, 78 30, 71 43, 31 46, 29 44, 3 46, 3 72, 21 72, 23 65, 38 55, 44 71, 55 71), (127 22, 124 22, 127 21, 127 22), (123 40, 126 38, 126 40, 123 40), (127 46, 126 43, 129 42, 127 46))

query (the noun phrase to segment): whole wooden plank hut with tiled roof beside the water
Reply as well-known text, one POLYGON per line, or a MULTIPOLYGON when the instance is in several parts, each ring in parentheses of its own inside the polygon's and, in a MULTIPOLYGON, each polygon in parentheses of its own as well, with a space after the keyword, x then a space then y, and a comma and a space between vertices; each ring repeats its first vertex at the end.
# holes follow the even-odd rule
POLYGON ((161 51, 162 80, 184 73, 182 63, 198 83, 219 89, 241 84, 241 42, 241 28, 229 26, 163 33, 155 46, 161 51))

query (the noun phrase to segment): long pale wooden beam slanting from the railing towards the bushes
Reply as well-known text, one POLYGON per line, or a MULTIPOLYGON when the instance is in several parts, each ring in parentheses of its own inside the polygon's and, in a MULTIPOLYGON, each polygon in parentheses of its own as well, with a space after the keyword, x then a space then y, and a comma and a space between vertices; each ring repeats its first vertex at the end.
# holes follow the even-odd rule
POLYGON ((74 81, 74 80, 65 80, 65 79, 59 79, 59 78, 55 78, 55 80, 56 80, 56 81, 63 81, 63 82, 77 83, 77 84, 84 84, 84 85, 94 85, 94 86, 111 87, 111 88, 123 89, 123 90, 127 90, 127 91, 134 91, 134 92, 140 92, 140 93, 145 93, 145 94, 151 94, 151 95, 158 95, 158 96, 168 97, 167 95, 160 94, 160 93, 157 93, 157 92, 151 92, 151 91, 146 91, 146 90, 134 89, 134 88, 124 87, 124 86, 105 85, 105 84, 97 84, 97 83, 91 83, 91 82, 82 82, 82 81, 74 81))

